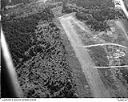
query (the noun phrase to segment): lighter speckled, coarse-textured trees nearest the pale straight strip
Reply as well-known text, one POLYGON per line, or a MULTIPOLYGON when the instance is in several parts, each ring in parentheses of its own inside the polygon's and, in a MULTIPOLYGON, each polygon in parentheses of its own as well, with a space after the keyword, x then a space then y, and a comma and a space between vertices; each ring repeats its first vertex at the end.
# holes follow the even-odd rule
MULTIPOLYGON (((66 61, 66 50, 60 38, 60 30, 53 22, 41 20, 35 32, 37 43, 27 52, 29 56, 35 57, 26 62, 29 64, 24 63, 23 68, 30 72, 26 80, 37 88, 25 91, 26 96, 76 97, 72 71, 66 61)), ((24 90, 29 88, 24 85, 22 87, 24 90)))

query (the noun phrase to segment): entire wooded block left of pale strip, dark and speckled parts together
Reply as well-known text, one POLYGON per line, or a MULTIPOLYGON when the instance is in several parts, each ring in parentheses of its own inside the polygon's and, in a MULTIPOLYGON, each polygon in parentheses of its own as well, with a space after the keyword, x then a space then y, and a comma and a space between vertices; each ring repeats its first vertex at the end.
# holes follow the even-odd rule
POLYGON ((2 21, 24 97, 77 97, 60 30, 46 8, 2 21))

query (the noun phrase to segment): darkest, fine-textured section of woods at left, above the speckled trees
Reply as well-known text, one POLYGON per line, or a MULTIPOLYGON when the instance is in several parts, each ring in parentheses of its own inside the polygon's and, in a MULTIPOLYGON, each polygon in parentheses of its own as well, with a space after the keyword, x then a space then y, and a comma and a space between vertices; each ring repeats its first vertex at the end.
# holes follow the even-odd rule
POLYGON ((54 15, 46 8, 41 13, 2 21, 2 28, 9 44, 13 61, 18 64, 19 58, 24 58, 24 52, 33 45, 35 39, 35 29, 39 20, 51 21, 54 15))

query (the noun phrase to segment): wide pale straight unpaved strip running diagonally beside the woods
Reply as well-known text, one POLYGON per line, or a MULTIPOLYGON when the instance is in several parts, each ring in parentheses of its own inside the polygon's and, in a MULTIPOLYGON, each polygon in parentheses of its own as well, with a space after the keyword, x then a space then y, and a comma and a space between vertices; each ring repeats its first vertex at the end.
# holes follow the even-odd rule
POLYGON ((88 54, 88 51, 86 48, 80 47, 83 46, 81 39, 79 38, 78 34, 73 29, 71 20, 73 18, 69 15, 66 17, 60 17, 59 18, 67 37, 71 43, 71 46, 73 47, 76 57, 78 58, 81 68, 85 74, 85 77, 88 81, 88 84, 91 88, 91 92, 94 97, 111 97, 109 94, 109 91, 105 88, 98 70, 96 68, 93 68, 95 65, 92 62, 92 59, 90 58, 90 55, 88 54))

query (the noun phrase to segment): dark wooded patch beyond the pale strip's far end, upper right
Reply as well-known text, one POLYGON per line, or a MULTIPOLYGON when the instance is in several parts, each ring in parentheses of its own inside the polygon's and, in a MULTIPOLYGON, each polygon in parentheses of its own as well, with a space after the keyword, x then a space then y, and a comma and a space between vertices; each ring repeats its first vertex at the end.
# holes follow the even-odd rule
POLYGON ((115 10, 113 7, 95 6, 94 8, 78 7, 76 4, 63 5, 63 13, 76 12, 76 18, 80 21, 90 25, 95 31, 105 31, 109 29, 107 20, 115 20, 118 18, 125 18, 122 11, 115 10))

